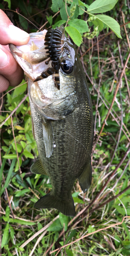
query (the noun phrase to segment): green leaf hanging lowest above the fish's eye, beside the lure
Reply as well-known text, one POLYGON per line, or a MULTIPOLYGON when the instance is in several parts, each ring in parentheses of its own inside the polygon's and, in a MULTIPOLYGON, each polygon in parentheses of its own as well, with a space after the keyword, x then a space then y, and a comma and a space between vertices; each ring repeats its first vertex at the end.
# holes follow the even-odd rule
POLYGON ((70 35, 71 39, 74 41, 74 44, 80 46, 82 43, 82 36, 80 32, 73 27, 66 27, 65 30, 70 35))

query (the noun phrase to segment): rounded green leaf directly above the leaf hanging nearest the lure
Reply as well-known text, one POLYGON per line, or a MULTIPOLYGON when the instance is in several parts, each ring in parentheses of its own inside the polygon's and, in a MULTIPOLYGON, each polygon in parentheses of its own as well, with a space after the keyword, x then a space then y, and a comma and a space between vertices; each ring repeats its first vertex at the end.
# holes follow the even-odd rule
POLYGON ((68 24, 69 26, 77 29, 80 33, 89 31, 87 23, 82 19, 72 19, 68 22, 68 24))

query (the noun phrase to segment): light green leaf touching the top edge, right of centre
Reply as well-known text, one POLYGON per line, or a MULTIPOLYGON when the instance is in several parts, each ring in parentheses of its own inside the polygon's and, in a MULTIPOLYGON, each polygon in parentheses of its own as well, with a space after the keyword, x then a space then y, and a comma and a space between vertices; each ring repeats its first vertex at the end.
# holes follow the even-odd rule
POLYGON ((116 5, 118 0, 96 0, 87 9, 90 13, 108 12, 116 5))

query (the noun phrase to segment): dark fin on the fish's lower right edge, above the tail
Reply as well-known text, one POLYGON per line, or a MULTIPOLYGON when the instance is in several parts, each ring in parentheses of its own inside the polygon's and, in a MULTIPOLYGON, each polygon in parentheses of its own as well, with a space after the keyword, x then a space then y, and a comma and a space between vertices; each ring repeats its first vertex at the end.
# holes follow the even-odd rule
POLYGON ((91 185, 91 180, 92 180, 91 162, 84 165, 83 172, 78 177, 78 180, 79 180, 79 183, 80 183, 80 186, 81 186, 83 192, 85 193, 89 189, 89 187, 91 185))

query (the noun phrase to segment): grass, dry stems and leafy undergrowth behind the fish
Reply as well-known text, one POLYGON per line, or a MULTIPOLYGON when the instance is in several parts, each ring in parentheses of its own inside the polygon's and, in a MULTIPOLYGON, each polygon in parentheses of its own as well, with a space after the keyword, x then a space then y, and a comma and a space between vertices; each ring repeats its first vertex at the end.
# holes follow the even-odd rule
MULTIPOLYGON (((86 4, 92 2, 90 0, 86 4)), ((11 11, 7 2, 0 4, 13 24, 28 33, 36 32, 47 22, 47 17, 54 15, 50 7, 51 1, 36 3, 33 0, 12 0, 11 11)), ((32 135, 26 78, 20 86, 15 89, 10 87, 1 95, 0 121, 4 122, 1 127, 0 159, 2 255, 46 255, 50 250, 68 243, 70 245, 59 251, 58 255, 130 255, 129 60, 118 84, 129 58, 129 2, 118 1, 107 15, 121 25, 122 39, 106 28, 94 39, 84 38, 81 47, 77 48, 88 77, 95 137, 92 185, 84 195, 77 181, 72 191, 76 205, 75 218, 66 217, 54 209, 34 208, 34 203, 48 193, 51 184, 47 176, 30 172, 38 152, 32 135), (127 23, 125 28, 123 23, 127 23), (111 113, 105 121, 111 103, 111 113), (109 177, 112 179, 106 184, 109 177), (103 185, 105 189, 102 191, 103 185), (83 236, 87 237, 82 239, 83 236), (79 241, 74 242, 77 239, 79 241)), ((84 14, 81 18, 86 20, 88 16, 84 14)), ((53 23, 56 20, 58 15, 53 23)), ((46 23, 44 28, 48 27, 46 23)), ((50 255, 57 255, 57 252, 50 255)))

